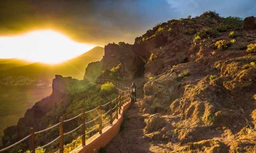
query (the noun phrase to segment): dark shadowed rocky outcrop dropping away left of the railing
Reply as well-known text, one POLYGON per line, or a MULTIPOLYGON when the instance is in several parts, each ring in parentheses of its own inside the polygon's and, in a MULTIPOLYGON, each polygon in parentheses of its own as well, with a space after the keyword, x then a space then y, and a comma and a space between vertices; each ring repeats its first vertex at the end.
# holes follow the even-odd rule
MULTIPOLYGON (((12 126, 4 129, 4 136, 2 137, 3 145, 10 145, 26 135, 28 135, 29 128, 35 128, 36 131, 48 127, 47 123, 42 123, 42 118, 56 105, 60 103, 60 100, 65 102, 66 96, 71 92, 71 87, 78 80, 72 77, 62 77, 56 75, 52 81, 52 94, 38 102, 28 109, 24 115, 24 118, 20 118, 17 126, 12 126)), ((66 101, 67 102, 67 101, 66 101)), ((58 116, 59 117, 59 116, 58 116)), ((56 116, 56 119, 58 120, 56 116)), ((56 122, 58 122, 56 120, 56 122)))

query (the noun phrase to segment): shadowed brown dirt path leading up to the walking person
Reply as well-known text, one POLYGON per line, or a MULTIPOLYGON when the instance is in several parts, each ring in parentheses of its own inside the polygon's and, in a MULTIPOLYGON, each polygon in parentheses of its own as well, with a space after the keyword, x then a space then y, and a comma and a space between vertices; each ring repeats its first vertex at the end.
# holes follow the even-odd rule
POLYGON ((140 100, 124 113, 120 132, 105 147, 107 153, 148 153, 149 144, 142 131, 145 123, 140 111, 140 100))

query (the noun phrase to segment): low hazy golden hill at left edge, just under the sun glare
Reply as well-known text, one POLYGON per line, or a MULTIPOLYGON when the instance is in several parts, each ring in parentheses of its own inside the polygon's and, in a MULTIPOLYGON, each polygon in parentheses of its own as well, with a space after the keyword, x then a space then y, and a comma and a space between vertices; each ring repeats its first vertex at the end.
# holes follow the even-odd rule
POLYGON ((28 64, 31 64, 31 62, 20 59, 0 59, 0 71, 5 71, 14 67, 22 67, 28 64))

